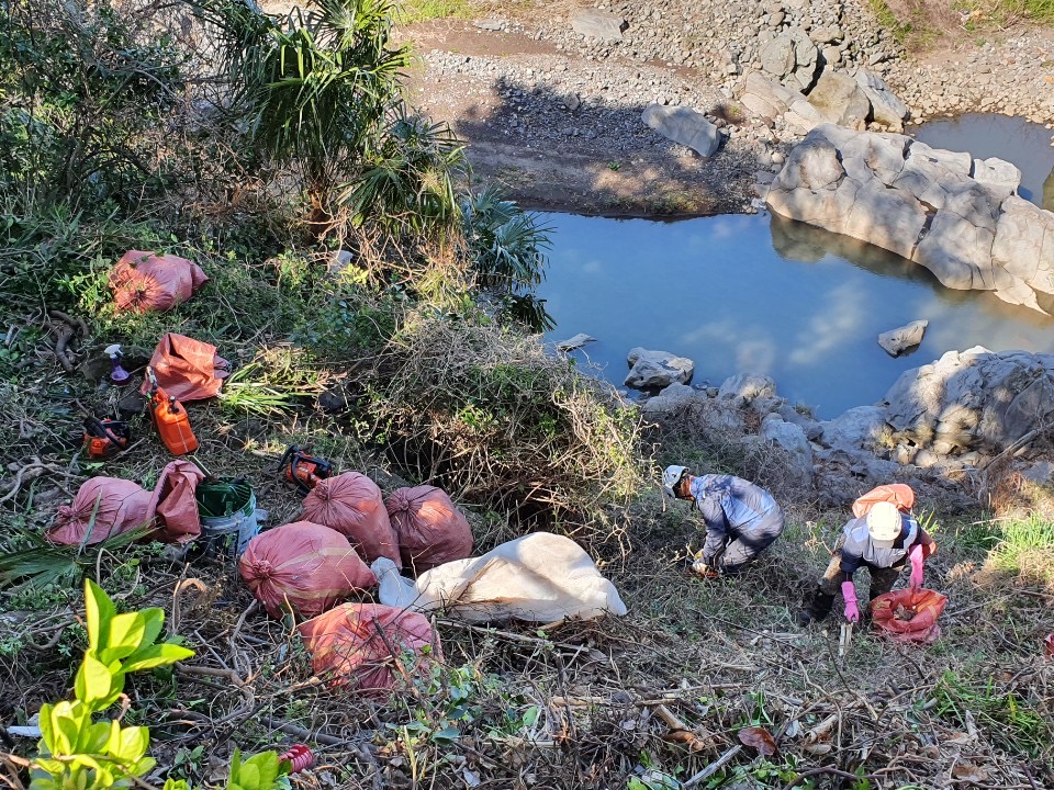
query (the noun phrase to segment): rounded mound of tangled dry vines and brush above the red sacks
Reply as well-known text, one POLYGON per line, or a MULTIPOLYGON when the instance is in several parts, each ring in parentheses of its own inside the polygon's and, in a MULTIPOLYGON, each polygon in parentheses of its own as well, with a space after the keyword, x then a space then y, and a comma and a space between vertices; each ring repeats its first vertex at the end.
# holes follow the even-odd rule
POLYGON ((648 475, 635 408, 536 337, 494 324, 407 325, 368 388, 374 438, 470 501, 584 512, 635 495, 648 475))

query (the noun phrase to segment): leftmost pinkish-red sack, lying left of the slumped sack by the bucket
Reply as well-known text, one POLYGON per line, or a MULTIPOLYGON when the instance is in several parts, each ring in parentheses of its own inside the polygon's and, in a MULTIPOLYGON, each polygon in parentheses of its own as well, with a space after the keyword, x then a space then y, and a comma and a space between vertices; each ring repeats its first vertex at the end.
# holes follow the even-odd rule
POLYGON ((47 530, 47 539, 63 545, 93 545, 136 527, 145 527, 152 517, 148 490, 120 477, 92 477, 80 486, 72 504, 58 509, 55 523, 47 530), (96 521, 89 534, 92 512, 96 521))

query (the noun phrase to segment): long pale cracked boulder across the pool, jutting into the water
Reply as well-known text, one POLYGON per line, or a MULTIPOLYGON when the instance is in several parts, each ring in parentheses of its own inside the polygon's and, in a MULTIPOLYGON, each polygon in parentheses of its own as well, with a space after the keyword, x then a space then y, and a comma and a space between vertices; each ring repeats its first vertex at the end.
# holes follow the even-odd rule
POLYGON ((975 167, 969 154, 827 123, 795 146, 765 201, 912 260, 948 287, 1042 311, 1054 303, 1054 214, 994 191, 975 167))

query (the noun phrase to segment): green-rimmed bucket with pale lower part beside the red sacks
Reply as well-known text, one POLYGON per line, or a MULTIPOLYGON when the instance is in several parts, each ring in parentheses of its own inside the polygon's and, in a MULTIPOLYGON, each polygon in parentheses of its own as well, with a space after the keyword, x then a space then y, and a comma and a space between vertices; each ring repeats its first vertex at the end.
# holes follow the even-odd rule
POLYGON ((206 477, 194 494, 204 555, 232 560, 260 532, 267 514, 256 508, 256 493, 245 477, 206 477))

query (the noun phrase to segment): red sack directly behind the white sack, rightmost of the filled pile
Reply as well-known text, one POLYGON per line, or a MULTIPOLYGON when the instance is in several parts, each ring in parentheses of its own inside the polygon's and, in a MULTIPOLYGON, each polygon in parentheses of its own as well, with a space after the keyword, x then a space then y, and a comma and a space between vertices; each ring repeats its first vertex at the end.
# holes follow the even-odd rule
POLYGON ((446 492, 400 488, 386 507, 404 564, 421 572, 472 555, 472 528, 446 492))

